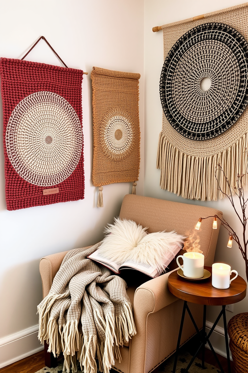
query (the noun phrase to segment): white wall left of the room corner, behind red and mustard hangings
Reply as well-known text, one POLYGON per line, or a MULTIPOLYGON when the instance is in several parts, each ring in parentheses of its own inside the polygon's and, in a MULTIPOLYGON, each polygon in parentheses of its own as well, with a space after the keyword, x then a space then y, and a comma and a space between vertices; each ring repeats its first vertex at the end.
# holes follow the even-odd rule
MULTIPOLYGON (((96 207, 91 182, 92 66, 139 72, 143 144, 143 0, 1 0, 0 56, 22 58, 44 35, 71 68, 87 71, 83 79, 85 198, 80 201, 7 211, 3 147, 0 147, 0 367, 37 351, 36 306, 42 299, 39 259, 59 251, 94 244, 119 214, 132 184, 104 186, 104 208, 96 207)), ((26 58, 62 66, 43 40, 26 58)), ((1 106, 1 105, 0 105, 1 106)), ((1 109, 0 109, 1 110, 1 109)), ((0 133, 3 122, 0 113, 0 133)), ((2 135, 1 135, 2 136, 2 135)), ((2 139, 1 139, 2 141, 2 139)), ((137 193, 143 194, 143 146, 137 193)))

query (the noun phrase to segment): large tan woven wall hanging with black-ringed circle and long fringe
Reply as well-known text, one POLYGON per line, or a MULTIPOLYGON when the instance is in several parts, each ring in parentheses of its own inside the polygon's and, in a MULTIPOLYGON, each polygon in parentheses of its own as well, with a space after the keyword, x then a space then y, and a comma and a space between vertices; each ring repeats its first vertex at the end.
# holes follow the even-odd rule
MULTIPOLYGON (((232 187, 247 167, 248 3, 197 18, 162 26, 157 168, 162 189, 217 200, 217 164, 232 187)), ((228 192, 223 176, 220 186, 228 192)))

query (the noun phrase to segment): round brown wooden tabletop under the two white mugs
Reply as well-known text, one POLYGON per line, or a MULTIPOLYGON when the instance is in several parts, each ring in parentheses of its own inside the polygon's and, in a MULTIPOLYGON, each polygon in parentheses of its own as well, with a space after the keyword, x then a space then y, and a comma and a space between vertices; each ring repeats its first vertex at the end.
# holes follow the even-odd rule
POLYGON ((185 280, 177 271, 172 272, 168 277, 170 292, 185 301, 206 305, 232 304, 245 298, 247 285, 242 277, 233 280, 228 289, 216 289, 212 286, 212 267, 204 268, 211 272, 211 276, 199 282, 185 280))

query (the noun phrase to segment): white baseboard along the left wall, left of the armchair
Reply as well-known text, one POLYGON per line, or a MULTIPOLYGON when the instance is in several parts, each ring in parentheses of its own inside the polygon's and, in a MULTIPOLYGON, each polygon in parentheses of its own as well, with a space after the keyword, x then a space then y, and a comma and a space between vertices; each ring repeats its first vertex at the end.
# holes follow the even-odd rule
POLYGON ((39 325, 34 325, 0 338, 0 368, 44 349, 38 340, 38 330, 39 325))

